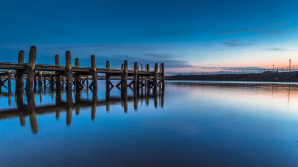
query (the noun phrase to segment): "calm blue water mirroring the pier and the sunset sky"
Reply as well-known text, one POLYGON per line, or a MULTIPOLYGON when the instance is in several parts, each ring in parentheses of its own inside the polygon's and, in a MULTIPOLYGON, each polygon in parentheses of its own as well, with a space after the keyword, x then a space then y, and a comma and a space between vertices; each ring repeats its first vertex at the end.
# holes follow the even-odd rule
POLYGON ((164 97, 128 89, 127 107, 98 84, 95 111, 90 91, 66 112, 47 86, 35 114, 2 87, 0 167, 298 166, 297 84, 169 81, 164 97))

